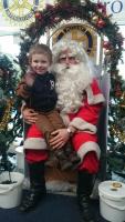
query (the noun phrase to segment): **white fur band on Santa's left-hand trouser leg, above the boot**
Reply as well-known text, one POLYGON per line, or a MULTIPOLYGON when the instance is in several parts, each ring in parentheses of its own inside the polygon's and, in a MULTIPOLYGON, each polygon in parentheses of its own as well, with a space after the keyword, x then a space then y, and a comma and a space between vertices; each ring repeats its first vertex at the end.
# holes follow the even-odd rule
POLYGON ((33 150, 46 150, 46 143, 45 140, 41 138, 28 138, 24 141, 23 148, 33 150))

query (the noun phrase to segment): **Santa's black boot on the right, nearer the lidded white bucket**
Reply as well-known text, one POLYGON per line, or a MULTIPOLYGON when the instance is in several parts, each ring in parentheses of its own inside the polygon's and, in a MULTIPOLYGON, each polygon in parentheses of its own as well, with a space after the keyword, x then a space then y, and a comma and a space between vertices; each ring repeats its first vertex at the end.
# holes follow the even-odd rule
POLYGON ((94 222, 92 212, 90 210, 90 195, 93 189, 93 174, 86 171, 79 172, 77 180, 77 201, 82 220, 84 222, 94 222))

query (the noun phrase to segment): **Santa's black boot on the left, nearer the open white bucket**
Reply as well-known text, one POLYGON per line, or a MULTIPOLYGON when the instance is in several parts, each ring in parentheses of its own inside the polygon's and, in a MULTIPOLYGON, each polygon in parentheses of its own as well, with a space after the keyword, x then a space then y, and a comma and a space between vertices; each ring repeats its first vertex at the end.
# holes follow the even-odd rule
POLYGON ((28 164, 30 176, 30 193, 23 196, 20 211, 28 212, 35 208, 46 194, 44 180, 44 162, 28 164))

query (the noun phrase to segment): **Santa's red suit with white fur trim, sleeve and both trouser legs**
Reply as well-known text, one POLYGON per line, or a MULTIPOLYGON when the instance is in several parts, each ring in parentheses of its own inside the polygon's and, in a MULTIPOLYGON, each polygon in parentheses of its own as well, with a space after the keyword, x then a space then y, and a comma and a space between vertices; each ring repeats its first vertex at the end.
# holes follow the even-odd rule
MULTIPOLYGON (((80 170, 88 170, 95 173, 100 165, 100 147, 97 144, 97 122, 104 97, 98 88, 97 81, 94 79, 92 83, 84 90, 82 105, 75 113, 64 115, 65 123, 75 127, 76 133, 72 137, 73 148, 81 158, 80 170)), ((42 132, 33 124, 28 131, 27 138, 32 143, 25 145, 25 158, 29 162, 41 161, 48 159, 46 144, 42 132), (34 144, 32 140, 33 129, 34 144), (38 141, 38 142, 37 142, 38 141)))

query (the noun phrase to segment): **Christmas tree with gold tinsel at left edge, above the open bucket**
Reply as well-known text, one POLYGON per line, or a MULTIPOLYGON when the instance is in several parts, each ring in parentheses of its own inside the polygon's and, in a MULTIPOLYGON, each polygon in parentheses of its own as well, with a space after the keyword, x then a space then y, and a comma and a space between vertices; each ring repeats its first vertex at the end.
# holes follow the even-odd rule
POLYGON ((22 135, 22 120, 15 99, 20 74, 18 61, 9 54, 0 53, 0 153, 7 151, 17 137, 22 135), (7 112, 10 101, 12 104, 7 112))

